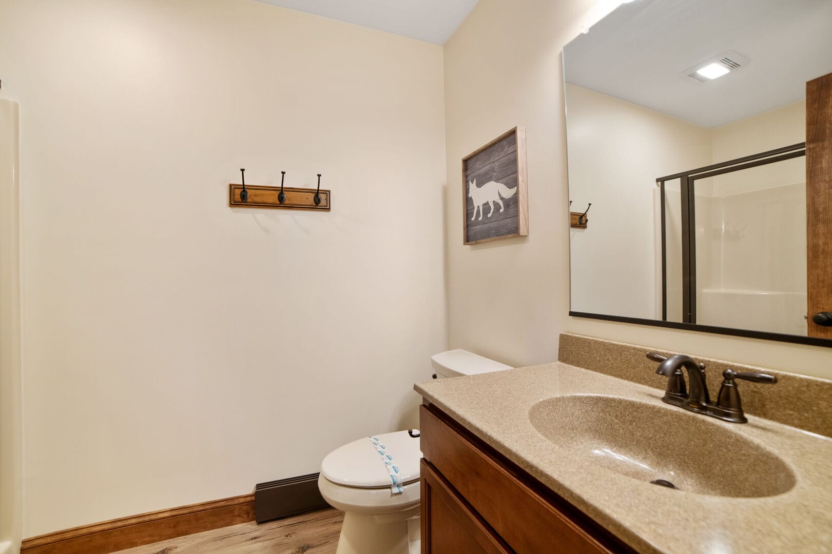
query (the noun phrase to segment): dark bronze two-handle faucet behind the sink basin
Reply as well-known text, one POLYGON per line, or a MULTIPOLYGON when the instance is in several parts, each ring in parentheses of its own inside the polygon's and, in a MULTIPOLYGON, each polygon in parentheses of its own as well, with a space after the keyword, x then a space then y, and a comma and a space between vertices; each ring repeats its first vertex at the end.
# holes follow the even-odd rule
POLYGON ((722 372, 722 387, 716 403, 711 403, 708 384, 705 378, 705 364, 697 364, 695 359, 685 354, 676 354, 666 358, 661 354, 647 353, 647 358, 660 362, 656 373, 667 378, 667 388, 662 402, 685 408, 691 412, 703 413, 711 418, 718 418, 731 423, 747 423, 742 411, 740 391, 736 388, 735 379, 745 379, 755 383, 777 383, 777 378, 768 373, 740 373, 733 369, 722 372), (685 374, 691 383, 691 392, 686 392, 685 374))

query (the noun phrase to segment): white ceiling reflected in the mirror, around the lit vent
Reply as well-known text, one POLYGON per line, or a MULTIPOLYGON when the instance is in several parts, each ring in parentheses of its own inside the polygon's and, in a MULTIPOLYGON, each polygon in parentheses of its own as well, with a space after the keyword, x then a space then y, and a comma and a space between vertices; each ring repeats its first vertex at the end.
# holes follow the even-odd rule
MULTIPOLYGON (((636 0, 564 47, 567 82, 714 127, 805 98, 832 72, 832 0, 636 0), (733 50, 711 82, 681 72, 733 50)), ((567 106, 568 107, 568 106, 567 106)))

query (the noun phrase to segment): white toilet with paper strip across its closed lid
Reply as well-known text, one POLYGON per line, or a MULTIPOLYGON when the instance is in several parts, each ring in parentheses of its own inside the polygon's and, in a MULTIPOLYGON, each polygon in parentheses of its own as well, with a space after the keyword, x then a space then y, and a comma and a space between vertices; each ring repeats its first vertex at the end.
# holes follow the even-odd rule
MULTIPOLYGON (((435 354, 430 361, 433 378, 512 369, 461 349, 435 354)), ((335 554, 420 552, 420 458, 418 429, 359 438, 324 458, 318 488, 329 505, 344 512, 335 554)))

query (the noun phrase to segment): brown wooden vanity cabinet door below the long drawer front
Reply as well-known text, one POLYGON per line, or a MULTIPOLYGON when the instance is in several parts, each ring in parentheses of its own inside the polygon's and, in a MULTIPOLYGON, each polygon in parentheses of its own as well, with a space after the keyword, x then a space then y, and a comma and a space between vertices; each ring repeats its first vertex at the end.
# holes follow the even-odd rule
POLYGON ((422 459, 422 554, 512 552, 450 483, 422 459))

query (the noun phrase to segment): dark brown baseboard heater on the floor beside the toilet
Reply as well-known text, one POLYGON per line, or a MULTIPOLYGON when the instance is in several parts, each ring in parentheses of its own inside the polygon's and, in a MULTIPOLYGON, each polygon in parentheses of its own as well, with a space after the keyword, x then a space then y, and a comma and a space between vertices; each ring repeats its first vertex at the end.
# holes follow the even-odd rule
POLYGON ((261 482, 255 486, 255 520, 269 522, 329 506, 318 490, 319 473, 261 482))

